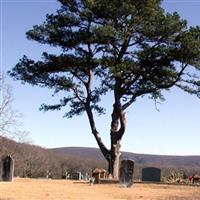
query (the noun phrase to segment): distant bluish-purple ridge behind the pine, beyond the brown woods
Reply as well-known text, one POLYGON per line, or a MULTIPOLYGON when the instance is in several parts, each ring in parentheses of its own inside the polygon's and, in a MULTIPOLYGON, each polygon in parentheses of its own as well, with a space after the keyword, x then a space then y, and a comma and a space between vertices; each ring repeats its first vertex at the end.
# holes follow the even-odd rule
MULTIPOLYGON (((104 160, 101 152, 97 148, 86 147, 63 147, 52 149, 62 156, 76 158, 104 160)), ((200 156, 165 156, 151 154, 135 154, 122 152, 121 158, 133 159, 135 164, 142 166, 157 166, 162 168, 194 168, 200 169, 200 156)))

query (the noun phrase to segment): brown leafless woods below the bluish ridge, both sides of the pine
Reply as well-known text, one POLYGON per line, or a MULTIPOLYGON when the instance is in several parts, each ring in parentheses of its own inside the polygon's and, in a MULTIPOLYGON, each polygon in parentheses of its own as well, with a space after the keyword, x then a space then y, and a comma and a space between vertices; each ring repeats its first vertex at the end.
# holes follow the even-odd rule
MULTIPOLYGON (((106 169, 104 160, 99 159, 98 156, 91 158, 90 154, 83 157, 81 156, 81 149, 78 150, 78 148, 74 154, 70 155, 67 151, 60 153, 56 149, 45 149, 28 143, 19 143, 5 137, 0 137, 0 144, 0 158, 11 155, 14 159, 15 177, 47 178, 48 176, 53 179, 62 179, 66 178, 66 174, 73 172, 81 172, 83 175, 87 173, 91 176, 95 168, 106 169)), ((135 157, 134 179, 137 180, 141 179, 142 168, 149 166, 160 168, 163 180, 167 180, 172 174, 182 173, 184 177, 188 177, 200 173, 198 167, 188 167, 178 163, 174 166, 159 165, 156 162, 154 163, 155 160, 152 157, 146 157, 146 162, 142 155, 140 157, 139 161, 135 157)), ((160 159, 162 160, 162 156, 160 159)))

